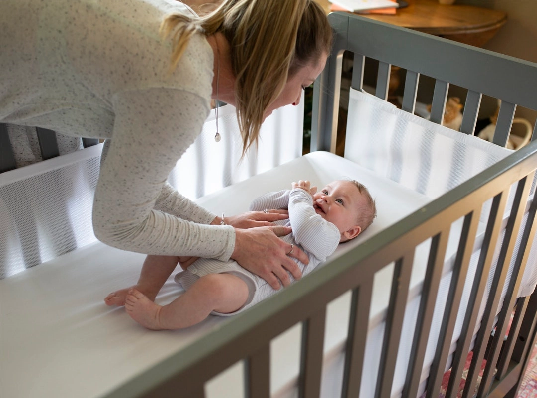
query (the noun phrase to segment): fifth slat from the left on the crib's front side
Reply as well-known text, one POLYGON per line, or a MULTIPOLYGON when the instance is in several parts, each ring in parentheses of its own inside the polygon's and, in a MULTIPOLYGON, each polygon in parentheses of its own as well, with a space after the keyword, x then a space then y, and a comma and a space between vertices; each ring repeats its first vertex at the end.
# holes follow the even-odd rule
POLYGON ((423 281, 422 298, 419 302, 418 316, 416 319, 416 330, 410 351, 407 380, 403 387, 403 396, 417 396, 422 374, 425 349, 431 330, 434 305, 436 304, 436 293, 442 277, 444 257, 446 255, 447 241, 449 238, 449 226, 441 233, 432 238, 429 260, 423 281))

